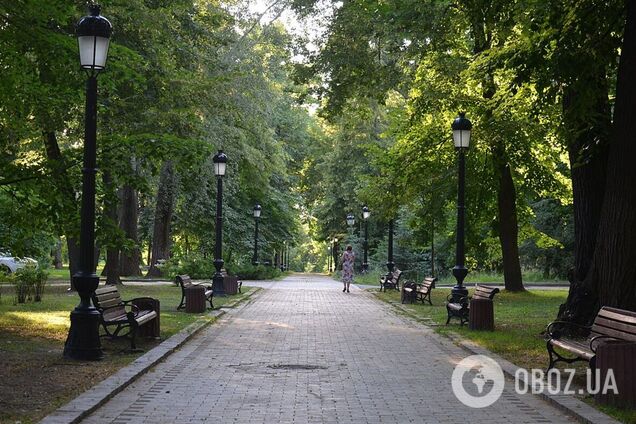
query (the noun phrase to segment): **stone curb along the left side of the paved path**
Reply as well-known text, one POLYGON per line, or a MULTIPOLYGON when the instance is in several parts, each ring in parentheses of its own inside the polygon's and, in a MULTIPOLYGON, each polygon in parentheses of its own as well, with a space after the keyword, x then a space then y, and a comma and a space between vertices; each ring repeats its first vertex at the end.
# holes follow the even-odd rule
MULTIPOLYGON (((213 310, 207 316, 220 318, 226 314, 226 309, 236 308, 242 303, 249 302, 252 296, 260 290, 260 287, 251 288, 250 291, 246 293, 246 297, 228 303, 217 310, 213 310)), ((66 405, 47 415, 42 419, 42 421, 40 421, 40 423, 68 424, 80 422, 97 408, 113 398, 116 394, 124 390, 128 385, 145 374, 150 368, 170 356, 170 354, 183 346, 201 330, 210 326, 213 322, 215 321, 199 320, 193 322, 177 334, 170 336, 158 346, 135 359, 115 374, 91 387, 66 405)))

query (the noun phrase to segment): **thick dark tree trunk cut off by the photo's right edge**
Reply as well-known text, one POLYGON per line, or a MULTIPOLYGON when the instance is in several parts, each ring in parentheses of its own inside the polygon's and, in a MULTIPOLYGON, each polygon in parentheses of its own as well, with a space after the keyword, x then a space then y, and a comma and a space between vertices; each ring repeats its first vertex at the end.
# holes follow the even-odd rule
MULTIPOLYGON (((616 83, 614 126, 596 249, 586 284, 596 285, 597 306, 636 310, 636 3, 627 20, 616 83)), ((590 315, 596 310, 590 311, 590 315)))

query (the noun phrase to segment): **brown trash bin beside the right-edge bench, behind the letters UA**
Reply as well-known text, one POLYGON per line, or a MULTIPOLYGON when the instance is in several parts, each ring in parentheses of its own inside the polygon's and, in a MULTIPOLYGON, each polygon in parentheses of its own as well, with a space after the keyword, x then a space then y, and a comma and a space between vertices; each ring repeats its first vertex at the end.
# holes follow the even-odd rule
MULTIPOLYGON (((596 382, 600 391, 594 395, 597 402, 621 408, 636 408, 636 343, 610 342, 599 344, 596 349, 596 369, 600 378, 596 382), (617 392, 603 394, 609 370, 614 374, 617 392)), ((612 380, 607 380, 613 383, 612 380)), ((608 386, 609 389, 611 386, 608 386)))

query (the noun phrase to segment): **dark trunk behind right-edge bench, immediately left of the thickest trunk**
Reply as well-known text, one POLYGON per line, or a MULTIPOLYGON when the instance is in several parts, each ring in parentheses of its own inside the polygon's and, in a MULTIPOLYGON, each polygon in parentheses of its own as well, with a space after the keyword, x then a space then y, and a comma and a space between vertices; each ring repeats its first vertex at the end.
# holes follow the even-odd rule
POLYGON ((568 298, 559 308, 558 319, 582 325, 591 323, 598 294, 587 276, 596 248, 601 210, 607 180, 608 141, 611 126, 608 83, 605 68, 599 66, 582 76, 563 96, 565 127, 572 128, 568 143, 572 194, 574 200, 574 267, 570 271, 568 298), (587 113, 581 114, 577 93, 585 86, 594 99, 587 113))

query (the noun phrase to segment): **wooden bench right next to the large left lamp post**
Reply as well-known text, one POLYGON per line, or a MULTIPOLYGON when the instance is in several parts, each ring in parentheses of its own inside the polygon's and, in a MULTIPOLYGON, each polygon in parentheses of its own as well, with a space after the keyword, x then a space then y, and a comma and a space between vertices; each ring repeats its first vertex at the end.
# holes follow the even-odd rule
MULTIPOLYGON (((95 290, 92 296, 93 304, 100 312, 100 323, 107 336, 111 339, 130 338, 130 349, 136 350, 135 336, 139 326, 152 320, 159 322, 157 313, 157 299, 151 297, 138 297, 131 300, 122 300, 117 286, 107 285, 95 290)), ((158 334, 155 334, 158 337, 158 334)))

